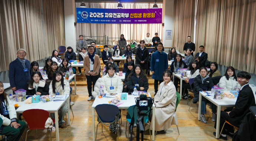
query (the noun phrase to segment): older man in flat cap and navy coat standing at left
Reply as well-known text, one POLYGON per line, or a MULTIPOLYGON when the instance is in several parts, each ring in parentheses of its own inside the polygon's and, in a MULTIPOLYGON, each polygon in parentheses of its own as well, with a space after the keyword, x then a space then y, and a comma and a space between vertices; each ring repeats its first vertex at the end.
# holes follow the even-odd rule
POLYGON ((26 60, 27 51, 23 48, 17 50, 17 58, 9 64, 9 80, 13 91, 27 89, 32 70, 30 61, 26 60))

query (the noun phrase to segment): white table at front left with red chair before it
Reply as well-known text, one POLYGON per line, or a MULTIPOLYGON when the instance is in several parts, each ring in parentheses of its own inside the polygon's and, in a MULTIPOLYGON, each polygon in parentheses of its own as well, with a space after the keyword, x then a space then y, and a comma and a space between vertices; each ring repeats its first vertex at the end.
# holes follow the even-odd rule
POLYGON ((59 118, 58 118, 58 110, 60 107, 62 107, 63 104, 68 103, 68 125, 70 125, 70 105, 69 105, 69 95, 63 95, 66 96, 66 99, 64 101, 50 101, 50 102, 39 102, 39 103, 32 103, 32 104, 25 104, 24 101, 22 102, 15 102, 16 104, 19 104, 20 107, 17 108, 16 113, 23 113, 26 110, 30 109, 42 109, 46 110, 49 113, 55 113, 55 128, 56 128, 56 141, 59 141, 59 118))

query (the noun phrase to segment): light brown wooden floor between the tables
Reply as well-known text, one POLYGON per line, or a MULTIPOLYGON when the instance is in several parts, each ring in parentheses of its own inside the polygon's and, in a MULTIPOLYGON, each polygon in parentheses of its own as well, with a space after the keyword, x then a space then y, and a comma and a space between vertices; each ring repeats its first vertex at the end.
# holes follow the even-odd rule
MULTIPOLYGON (((78 85, 86 85, 86 80, 82 82, 83 76, 77 77, 78 85), (80 83, 80 84, 79 84, 80 83)), ((149 78, 150 88, 148 90, 151 93, 151 96, 154 97, 154 80, 149 78), (153 82, 153 83, 152 83, 153 82)), ((74 89, 74 87, 73 87, 74 89)), ((73 90, 74 92, 74 90, 73 90)), ((87 101, 88 91, 86 86, 78 86, 77 94, 71 95, 71 101, 75 104, 72 105, 74 118, 72 117, 72 113, 70 110, 70 126, 67 128, 60 128, 60 141, 92 141, 92 113, 91 113, 91 105, 92 101, 87 101)), ((198 121, 198 103, 191 105, 190 111, 188 111, 189 105, 187 105, 187 100, 181 100, 180 104, 177 108, 177 116, 178 116, 178 128, 180 131, 180 135, 178 135, 178 131, 176 125, 172 125, 170 129, 166 131, 166 134, 156 135, 155 141, 217 141, 214 137, 213 132, 216 131, 214 129, 214 122, 211 121, 211 109, 207 105, 207 114, 206 120, 207 124, 198 121)), ((122 125, 121 125, 121 135, 119 136, 120 141, 127 141, 128 138, 125 137, 125 125, 126 125, 126 114, 127 110, 122 111, 122 125)), ((97 119, 97 114, 95 112, 95 119, 97 119)), ((65 120, 65 119, 64 119, 65 120)), ((96 125, 98 124, 95 121, 95 130, 96 125)), ((146 130, 148 126, 146 127, 146 130)), ((22 137, 25 140, 26 131, 28 128, 26 127, 22 137)), ((134 128, 136 131, 136 128, 134 128)), ((27 141, 50 141, 50 133, 47 130, 38 130, 38 139, 36 139, 36 131, 29 131, 27 141)), ((136 133, 133 135, 133 140, 135 141, 136 133)), ((227 137, 229 140, 232 140, 230 137, 227 137)), ((117 140, 117 135, 109 131, 107 126, 103 127, 103 132, 101 132, 101 125, 99 124, 98 128, 98 141, 115 141, 117 140)), ((20 139, 20 141, 22 141, 20 139)), ((52 141, 56 141, 55 133, 52 134, 52 141)), ((144 135, 144 141, 150 141, 149 135, 144 135)))

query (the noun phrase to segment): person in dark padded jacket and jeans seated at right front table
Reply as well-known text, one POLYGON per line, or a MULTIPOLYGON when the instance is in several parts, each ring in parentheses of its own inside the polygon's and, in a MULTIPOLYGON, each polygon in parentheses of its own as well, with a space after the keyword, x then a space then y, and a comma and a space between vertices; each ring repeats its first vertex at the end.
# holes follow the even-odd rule
MULTIPOLYGON (((197 103, 197 101, 199 101, 199 92, 200 91, 211 91, 211 88, 213 87, 213 81, 211 80, 211 78, 209 77, 209 75, 207 74, 207 69, 205 67, 201 67, 199 69, 200 74, 197 75, 194 78, 194 98, 193 98, 193 103, 197 103)), ((201 102, 201 122, 203 123, 207 123, 204 114, 206 114, 206 104, 210 103, 209 100, 207 100, 206 98, 202 97, 202 102, 201 102)), ((213 103, 210 103, 211 105, 211 110, 213 112, 213 117, 212 117, 212 121, 216 120, 216 105, 213 103)))

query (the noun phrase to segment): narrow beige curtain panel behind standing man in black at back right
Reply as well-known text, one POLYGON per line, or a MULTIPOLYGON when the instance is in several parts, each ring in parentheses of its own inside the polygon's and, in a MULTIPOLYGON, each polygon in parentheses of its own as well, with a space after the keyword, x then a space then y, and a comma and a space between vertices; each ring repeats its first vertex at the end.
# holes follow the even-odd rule
POLYGON ((184 53, 183 46, 187 36, 194 40, 196 0, 174 0, 173 42, 172 47, 184 53))

